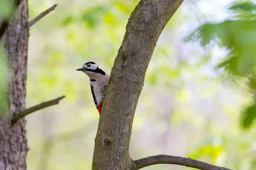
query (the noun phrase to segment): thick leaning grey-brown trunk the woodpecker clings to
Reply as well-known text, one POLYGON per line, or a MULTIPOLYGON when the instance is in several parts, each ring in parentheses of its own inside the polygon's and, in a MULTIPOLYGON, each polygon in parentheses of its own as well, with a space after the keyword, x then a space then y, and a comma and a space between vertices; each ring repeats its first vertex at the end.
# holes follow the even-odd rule
POLYGON ((128 20, 95 138, 93 170, 131 170, 134 112, 158 37, 183 0, 141 0, 128 20))

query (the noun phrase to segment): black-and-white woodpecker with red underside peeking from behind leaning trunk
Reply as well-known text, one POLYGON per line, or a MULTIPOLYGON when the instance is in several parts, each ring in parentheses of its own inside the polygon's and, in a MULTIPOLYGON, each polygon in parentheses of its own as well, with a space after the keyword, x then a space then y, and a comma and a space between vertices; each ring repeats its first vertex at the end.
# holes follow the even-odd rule
POLYGON ((100 69, 95 62, 87 62, 82 66, 82 68, 78 68, 76 70, 83 71, 90 78, 93 100, 100 115, 102 101, 108 87, 110 74, 100 69))

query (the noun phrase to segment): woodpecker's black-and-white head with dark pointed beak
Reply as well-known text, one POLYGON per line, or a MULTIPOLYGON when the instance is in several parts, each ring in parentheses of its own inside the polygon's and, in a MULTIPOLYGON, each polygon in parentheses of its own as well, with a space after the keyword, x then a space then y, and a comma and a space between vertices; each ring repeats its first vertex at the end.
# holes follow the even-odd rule
POLYGON ((105 75, 105 72, 95 64, 95 62, 86 62, 82 68, 76 69, 77 71, 83 71, 90 78, 96 77, 99 74, 105 75))

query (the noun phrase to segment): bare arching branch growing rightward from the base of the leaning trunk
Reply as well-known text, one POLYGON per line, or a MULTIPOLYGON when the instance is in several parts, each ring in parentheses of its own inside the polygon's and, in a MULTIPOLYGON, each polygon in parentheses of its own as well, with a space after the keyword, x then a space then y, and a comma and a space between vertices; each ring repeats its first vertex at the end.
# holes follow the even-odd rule
POLYGON ((177 164, 186 167, 193 167, 200 170, 230 170, 225 167, 218 167, 212 164, 207 164, 202 161, 198 161, 190 158, 183 158, 179 156, 169 156, 169 155, 156 155, 149 156, 143 159, 138 159, 134 161, 134 170, 141 169, 154 164, 177 164))

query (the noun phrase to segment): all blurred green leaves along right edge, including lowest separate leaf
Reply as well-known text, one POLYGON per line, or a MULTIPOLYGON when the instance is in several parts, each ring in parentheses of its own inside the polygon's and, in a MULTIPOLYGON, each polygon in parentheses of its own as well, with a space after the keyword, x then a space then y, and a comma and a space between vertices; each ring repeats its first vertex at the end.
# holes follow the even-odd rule
MULTIPOLYGON (((233 18, 221 23, 206 23, 194 31, 186 41, 199 40, 202 46, 215 41, 228 51, 217 65, 230 79, 245 79, 256 100, 256 5, 250 1, 235 3, 229 10, 233 18)), ((249 106, 242 113, 242 127, 249 127, 256 112, 249 106)))

